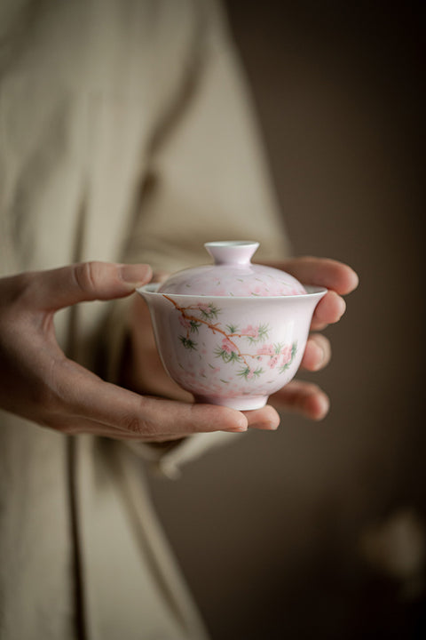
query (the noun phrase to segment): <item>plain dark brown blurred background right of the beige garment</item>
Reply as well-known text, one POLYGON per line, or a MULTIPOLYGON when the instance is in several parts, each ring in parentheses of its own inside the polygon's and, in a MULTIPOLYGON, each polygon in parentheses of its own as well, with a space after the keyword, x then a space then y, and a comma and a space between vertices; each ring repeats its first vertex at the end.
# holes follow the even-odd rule
POLYGON ((295 253, 360 285, 310 376, 327 419, 285 415, 153 480, 154 500, 215 640, 420 637, 422 590, 402 597, 359 540, 426 515, 422 3, 228 8, 295 253))

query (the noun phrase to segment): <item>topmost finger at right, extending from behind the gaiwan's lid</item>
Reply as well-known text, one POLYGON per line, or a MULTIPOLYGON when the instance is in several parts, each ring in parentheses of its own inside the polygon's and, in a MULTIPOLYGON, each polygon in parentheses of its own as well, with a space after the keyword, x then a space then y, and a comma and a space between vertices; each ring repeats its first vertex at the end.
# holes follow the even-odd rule
POLYGON ((324 286, 340 295, 351 293, 359 284, 355 271, 337 260, 306 256, 285 260, 280 268, 288 271, 304 284, 324 286))

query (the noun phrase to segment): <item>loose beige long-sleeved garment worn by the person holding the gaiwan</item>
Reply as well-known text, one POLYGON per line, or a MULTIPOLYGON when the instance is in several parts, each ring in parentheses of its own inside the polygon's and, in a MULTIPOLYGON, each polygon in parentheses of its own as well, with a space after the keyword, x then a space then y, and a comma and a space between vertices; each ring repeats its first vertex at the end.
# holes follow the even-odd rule
MULTIPOLYGON (((0 3, 0 275, 76 260, 175 270, 207 240, 286 241, 233 46, 198 0, 0 3)), ((125 307, 125 303, 124 303, 125 307)), ((56 317, 92 366, 114 304, 56 317)), ((113 349, 113 350, 114 350, 113 349)), ((2 640, 201 640, 138 454, 166 474, 225 435, 162 455, 0 413, 2 640)), ((238 436, 229 436, 238 437, 238 436)))

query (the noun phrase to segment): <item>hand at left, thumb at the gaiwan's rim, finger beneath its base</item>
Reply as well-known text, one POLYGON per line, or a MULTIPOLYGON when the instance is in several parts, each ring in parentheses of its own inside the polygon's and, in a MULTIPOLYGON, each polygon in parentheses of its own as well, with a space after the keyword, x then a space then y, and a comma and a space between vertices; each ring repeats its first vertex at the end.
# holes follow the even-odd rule
POLYGON ((122 298, 150 277, 146 265, 91 262, 0 278, 0 407, 65 434, 163 441, 246 430, 241 412, 139 396, 100 380, 59 348, 56 311, 122 298))

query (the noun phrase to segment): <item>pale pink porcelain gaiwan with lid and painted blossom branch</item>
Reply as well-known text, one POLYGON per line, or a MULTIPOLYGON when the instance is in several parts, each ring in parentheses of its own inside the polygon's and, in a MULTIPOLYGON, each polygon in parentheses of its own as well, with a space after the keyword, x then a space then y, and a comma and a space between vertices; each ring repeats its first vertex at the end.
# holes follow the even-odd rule
POLYGON ((258 409, 288 384, 327 289, 252 264, 256 242, 212 242, 214 262, 138 289, 162 364, 195 401, 258 409))

